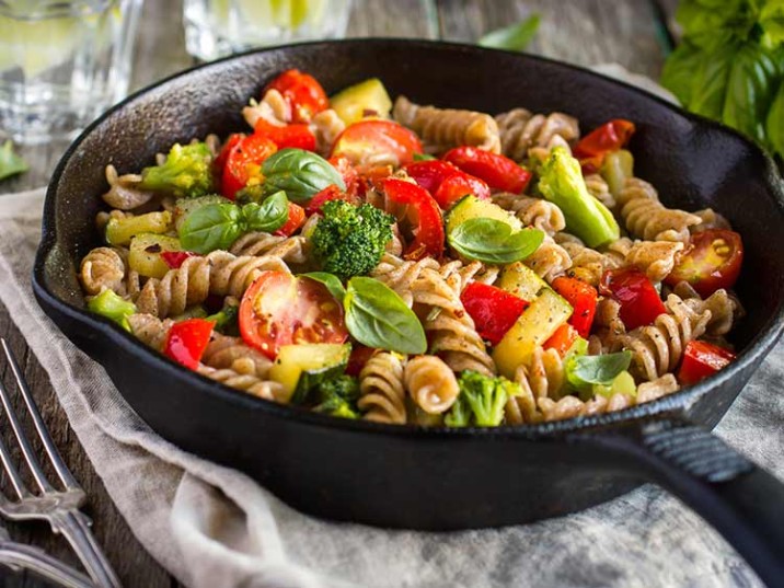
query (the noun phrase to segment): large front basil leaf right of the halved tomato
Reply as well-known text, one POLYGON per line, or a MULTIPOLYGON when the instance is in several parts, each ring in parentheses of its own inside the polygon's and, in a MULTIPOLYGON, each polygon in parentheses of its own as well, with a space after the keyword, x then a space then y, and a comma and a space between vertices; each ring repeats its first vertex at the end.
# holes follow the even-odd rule
POLYGON ((359 276, 348 280, 343 307, 348 332, 362 345, 401 354, 427 350, 419 319, 379 280, 359 276))

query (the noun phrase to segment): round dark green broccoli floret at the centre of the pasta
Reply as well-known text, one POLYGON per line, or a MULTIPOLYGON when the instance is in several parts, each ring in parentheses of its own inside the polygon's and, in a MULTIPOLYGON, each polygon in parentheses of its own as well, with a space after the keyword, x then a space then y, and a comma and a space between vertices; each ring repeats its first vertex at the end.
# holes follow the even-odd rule
POLYGON ((394 217, 362 204, 330 200, 321 207, 324 218, 313 230, 311 243, 325 272, 342 279, 369 273, 379 264, 392 239, 394 217))

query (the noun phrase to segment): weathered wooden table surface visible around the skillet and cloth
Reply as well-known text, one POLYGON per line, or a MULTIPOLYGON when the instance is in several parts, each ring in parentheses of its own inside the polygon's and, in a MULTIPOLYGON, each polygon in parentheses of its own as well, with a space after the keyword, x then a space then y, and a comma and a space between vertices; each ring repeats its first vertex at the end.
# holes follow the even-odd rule
MULTIPOLYGON (((657 78, 665 56, 664 25, 669 23, 667 15, 671 15, 677 0, 354 0, 354 3, 348 36, 427 37, 465 43, 538 12, 541 25, 529 51, 583 66, 614 61, 630 71, 657 78)), ((132 90, 194 64, 185 51, 178 0, 147 0, 141 22, 132 90)), ((45 185, 66 147, 53 142, 20 149, 31 171, 0 182, 0 193, 45 185)), ((2 304, 0 336, 9 339, 57 447, 88 493, 95 534, 124 585, 181 586, 134 538, 70 430, 46 372, 28 351, 2 304)), ((4 367, 0 368, 0 378, 10 382, 4 367)), ((37 545, 79 565, 65 541, 54 537, 46 524, 11 524, 9 531, 16 541, 37 545)), ((1 570, 0 584, 14 588, 45 586, 25 575, 2 577, 1 570)))

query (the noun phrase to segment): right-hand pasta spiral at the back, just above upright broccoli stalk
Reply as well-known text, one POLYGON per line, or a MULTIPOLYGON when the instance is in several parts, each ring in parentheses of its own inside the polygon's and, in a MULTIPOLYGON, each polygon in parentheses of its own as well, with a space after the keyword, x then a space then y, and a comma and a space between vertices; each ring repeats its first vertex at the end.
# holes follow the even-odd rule
POLYGON ((544 116, 534 115, 526 108, 512 108, 495 119, 500 132, 501 152, 515 161, 524 160, 532 148, 544 151, 537 153, 541 158, 557 145, 568 147, 580 134, 577 119, 563 113, 544 116))

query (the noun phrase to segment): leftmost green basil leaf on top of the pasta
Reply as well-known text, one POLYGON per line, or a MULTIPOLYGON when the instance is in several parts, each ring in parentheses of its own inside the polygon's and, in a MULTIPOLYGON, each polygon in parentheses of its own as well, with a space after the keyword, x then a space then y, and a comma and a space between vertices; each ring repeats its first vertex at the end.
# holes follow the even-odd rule
POLYGON ((185 217, 178 233, 186 251, 228 250, 243 233, 242 214, 233 204, 208 204, 185 217))

